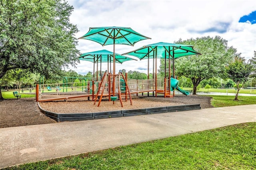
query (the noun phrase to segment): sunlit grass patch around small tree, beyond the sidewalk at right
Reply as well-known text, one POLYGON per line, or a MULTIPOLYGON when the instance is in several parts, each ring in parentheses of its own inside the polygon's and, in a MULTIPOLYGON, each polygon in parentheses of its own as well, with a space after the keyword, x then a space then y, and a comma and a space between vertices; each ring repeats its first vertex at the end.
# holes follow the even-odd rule
POLYGON ((209 96, 212 97, 211 104, 214 107, 256 104, 256 96, 238 96, 238 101, 234 100, 235 96, 216 96, 216 95, 209 95, 209 96))

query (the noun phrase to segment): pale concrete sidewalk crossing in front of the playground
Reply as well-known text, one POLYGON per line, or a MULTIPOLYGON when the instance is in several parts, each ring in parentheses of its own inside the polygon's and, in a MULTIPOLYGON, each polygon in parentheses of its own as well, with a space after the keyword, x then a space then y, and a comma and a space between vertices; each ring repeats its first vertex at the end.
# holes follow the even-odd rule
POLYGON ((0 128, 0 168, 255 121, 243 105, 0 128))

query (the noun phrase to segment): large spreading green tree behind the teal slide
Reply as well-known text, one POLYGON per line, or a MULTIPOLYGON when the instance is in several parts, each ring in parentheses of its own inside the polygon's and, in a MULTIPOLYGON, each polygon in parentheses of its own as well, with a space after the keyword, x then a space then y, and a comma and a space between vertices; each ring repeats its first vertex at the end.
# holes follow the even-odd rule
MULTIPOLYGON (((192 80, 194 95, 202 80, 221 76, 225 66, 237 55, 236 49, 228 47, 228 41, 220 36, 191 38, 175 43, 193 45, 196 51, 202 53, 202 55, 189 55, 175 59, 176 75, 184 75, 192 80)), ((162 63, 160 70, 164 67, 162 63)))

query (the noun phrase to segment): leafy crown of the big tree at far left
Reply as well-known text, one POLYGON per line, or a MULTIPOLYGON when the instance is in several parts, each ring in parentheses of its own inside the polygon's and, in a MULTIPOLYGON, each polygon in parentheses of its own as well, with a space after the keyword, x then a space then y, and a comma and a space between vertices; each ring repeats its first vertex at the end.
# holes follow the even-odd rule
POLYGON ((49 77, 75 66, 73 9, 63 0, 0 0, 0 79, 11 69, 49 77))

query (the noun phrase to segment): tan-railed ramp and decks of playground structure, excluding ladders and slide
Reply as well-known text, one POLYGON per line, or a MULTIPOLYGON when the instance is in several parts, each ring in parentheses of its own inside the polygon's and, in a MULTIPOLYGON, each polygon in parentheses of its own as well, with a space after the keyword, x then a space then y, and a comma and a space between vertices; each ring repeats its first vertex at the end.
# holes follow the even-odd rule
MULTIPOLYGON (((127 79, 128 87, 131 94, 152 92, 157 96, 157 93, 162 93, 164 97, 173 97, 173 92, 169 93, 168 83, 165 79, 127 79), (157 89, 156 89, 157 88, 157 89), (165 89, 165 90, 164 90, 165 89)), ((119 84, 121 91, 125 91, 125 87, 121 82, 119 84)), ((83 86, 77 86, 77 83, 56 83, 56 84, 42 84, 37 86, 36 99, 39 102, 54 101, 54 100, 68 100, 77 97, 88 97, 88 100, 94 99, 100 81, 87 81, 83 86), (47 87, 51 87, 50 90, 47 87)), ((104 88, 104 97, 113 95, 118 92, 118 81, 115 80, 115 88, 112 88, 112 82, 106 82, 104 88), (110 88, 111 87, 111 88, 110 88)), ((121 93, 125 95, 125 93, 121 93)))

